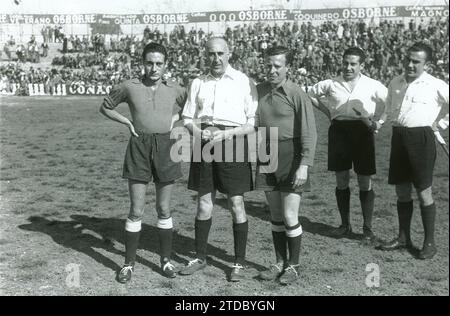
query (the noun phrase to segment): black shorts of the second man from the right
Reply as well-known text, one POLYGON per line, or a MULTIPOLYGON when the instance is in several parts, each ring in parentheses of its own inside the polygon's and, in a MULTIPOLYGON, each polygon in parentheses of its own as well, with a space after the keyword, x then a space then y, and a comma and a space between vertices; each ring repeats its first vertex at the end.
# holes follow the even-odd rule
POLYGON ((333 120, 328 130, 328 170, 376 173, 373 132, 361 121, 333 120))

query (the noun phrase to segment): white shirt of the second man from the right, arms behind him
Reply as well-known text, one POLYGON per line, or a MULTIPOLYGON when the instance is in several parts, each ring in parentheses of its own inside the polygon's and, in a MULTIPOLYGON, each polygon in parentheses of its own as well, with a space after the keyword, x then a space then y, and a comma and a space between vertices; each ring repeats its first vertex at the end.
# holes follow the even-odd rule
POLYGON ((338 76, 318 82, 308 94, 330 110, 332 120, 357 120, 372 118, 377 104, 384 107, 387 88, 361 74, 353 90, 342 76, 338 76))

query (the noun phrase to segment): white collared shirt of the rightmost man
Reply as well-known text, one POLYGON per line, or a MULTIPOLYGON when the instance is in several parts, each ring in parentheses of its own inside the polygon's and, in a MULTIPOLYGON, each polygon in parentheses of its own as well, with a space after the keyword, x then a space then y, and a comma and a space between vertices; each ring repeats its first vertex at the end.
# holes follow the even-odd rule
POLYGON ((431 126, 443 105, 448 113, 448 84, 426 72, 409 84, 404 75, 397 76, 388 90, 386 108, 394 126, 431 126))

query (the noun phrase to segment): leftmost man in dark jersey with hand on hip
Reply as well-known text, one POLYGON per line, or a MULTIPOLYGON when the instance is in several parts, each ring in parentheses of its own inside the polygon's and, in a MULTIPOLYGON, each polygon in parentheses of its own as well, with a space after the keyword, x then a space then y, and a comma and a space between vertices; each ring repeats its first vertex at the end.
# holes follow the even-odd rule
POLYGON ((173 223, 169 202, 174 181, 182 174, 180 164, 170 158, 170 148, 175 142, 170 139, 170 131, 179 118, 187 93, 176 83, 162 78, 167 65, 164 46, 150 43, 145 46, 142 57, 144 76, 114 87, 100 107, 103 115, 126 125, 131 133, 123 166, 131 206, 125 223, 125 264, 117 275, 121 283, 128 282, 134 272, 145 192, 152 179, 156 187, 162 274, 169 278, 176 276, 170 262, 173 223), (114 110, 122 102, 128 104, 132 120, 114 110))

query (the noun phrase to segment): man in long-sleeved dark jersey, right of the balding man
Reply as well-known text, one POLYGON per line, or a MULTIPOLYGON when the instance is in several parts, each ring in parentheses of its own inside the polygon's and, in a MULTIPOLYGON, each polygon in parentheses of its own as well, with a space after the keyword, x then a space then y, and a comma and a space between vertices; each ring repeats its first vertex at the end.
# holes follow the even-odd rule
MULTIPOLYGON (((258 110, 255 126, 267 132, 277 127, 275 138, 266 133, 266 148, 277 145, 276 170, 263 170, 258 163, 256 189, 266 193, 272 221, 276 263, 260 274, 263 280, 283 285, 298 279, 302 226, 298 221, 301 194, 308 191, 309 167, 312 166, 317 132, 311 101, 300 87, 287 78, 291 64, 289 50, 282 46, 267 50, 267 81, 257 86, 258 110), (289 257, 288 257, 289 252, 289 257)), ((271 162, 272 163, 272 162, 271 162)))

